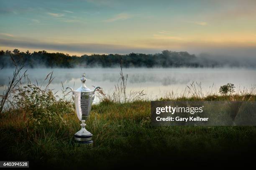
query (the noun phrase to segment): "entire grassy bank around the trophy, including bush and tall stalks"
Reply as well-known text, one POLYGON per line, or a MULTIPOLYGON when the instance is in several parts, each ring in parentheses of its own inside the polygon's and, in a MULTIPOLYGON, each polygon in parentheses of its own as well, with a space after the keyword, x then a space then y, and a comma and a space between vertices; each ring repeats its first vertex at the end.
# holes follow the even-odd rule
MULTIPOLYGON (((31 84, 27 75, 20 76, 17 69, 10 90, 0 96, 1 106, 7 106, 0 110, 0 160, 30 161, 32 168, 70 169, 212 167, 220 163, 231 167, 240 165, 241 160, 254 161, 254 126, 152 126, 150 101, 143 91, 125 92, 128 76, 123 75, 122 66, 120 85, 115 86, 113 95, 98 91, 101 102, 92 106, 86 121, 87 130, 93 134, 93 147, 79 145, 74 141, 74 133, 80 129, 74 103, 59 99, 49 90, 52 72, 42 88, 38 83, 31 84), (23 85, 22 78, 28 85, 23 85)), ((222 96, 203 94, 200 83, 192 83, 188 89, 189 96, 170 92, 158 100, 256 100, 254 88, 222 96)))

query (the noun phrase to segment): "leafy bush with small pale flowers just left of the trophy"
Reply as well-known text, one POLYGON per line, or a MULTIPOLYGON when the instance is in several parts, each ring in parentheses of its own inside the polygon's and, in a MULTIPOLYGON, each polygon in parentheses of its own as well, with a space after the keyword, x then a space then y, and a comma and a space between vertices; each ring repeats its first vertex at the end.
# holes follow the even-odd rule
POLYGON ((63 115, 73 112, 71 102, 57 100, 51 90, 41 90, 36 85, 18 88, 14 100, 34 125, 66 124, 63 115))

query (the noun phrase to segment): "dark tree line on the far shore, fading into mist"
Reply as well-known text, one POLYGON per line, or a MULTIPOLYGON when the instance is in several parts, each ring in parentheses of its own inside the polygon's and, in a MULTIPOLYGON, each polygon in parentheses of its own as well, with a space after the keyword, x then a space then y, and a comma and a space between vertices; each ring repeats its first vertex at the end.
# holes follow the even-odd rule
POLYGON ((130 53, 120 54, 92 54, 68 55, 63 53, 49 53, 46 51, 20 52, 0 50, 0 66, 13 67, 11 57, 15 62, 24 63, 25 67, 215 67, 222 63, 207 58, 196 57, 188 52, 164 50, 156 54, 130 53))

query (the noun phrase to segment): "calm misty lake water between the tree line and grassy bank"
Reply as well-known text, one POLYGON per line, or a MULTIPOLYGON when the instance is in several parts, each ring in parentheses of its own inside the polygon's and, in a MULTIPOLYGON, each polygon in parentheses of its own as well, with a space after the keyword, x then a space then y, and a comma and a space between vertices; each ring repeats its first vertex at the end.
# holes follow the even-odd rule
MULTIPOLYGON (((86 85, 93 89, 92 85, 101 86, 106 93, 114 90, 120 77, 119 68, 40 68, 29 69, 27 74, 31 82, 44 82, 49 72, 53 71, 55 77, 50 85, 58 95, 61 95, 61 82, 64 87, 77 89, 81 85, 80 77, 86 72, 86 85)), ((13 74, 13 69, 0 70, 0 92, 3 92, 8 84, 8 77, 13 74)), ((127 91, 144 90, 146 97, 154 99, 168 92, 183 94, 187 85, 195 82, 202 83, 202 91, 207 93, 212 86, 212 92, 217 93, 220 85, 228 82, 238 88, 250 88, 256 85, 256 70, 245 68, 126 68, 124 74, 128 74, 127 91)))

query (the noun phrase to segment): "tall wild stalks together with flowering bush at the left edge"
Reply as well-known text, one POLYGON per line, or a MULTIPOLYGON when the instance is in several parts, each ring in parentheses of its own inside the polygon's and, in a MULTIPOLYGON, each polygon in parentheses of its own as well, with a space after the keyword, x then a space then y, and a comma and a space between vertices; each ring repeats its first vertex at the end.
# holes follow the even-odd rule
POLYGON ((53 72, 46 75, 44 81, 38 85, 37 80, 36 84, 31 83, 26 71, 21 74, 23 64, 17 65, 15 60, 13 64, 13 77, 0 96, 0 116, 14 120, 22 117, 27 131, 31 130, 31 127, 36 130, 44 126, 65 125, 64 115, 74 112, 73 103, 64 97, 59 98, 49 88, 54 80, 53 72))

